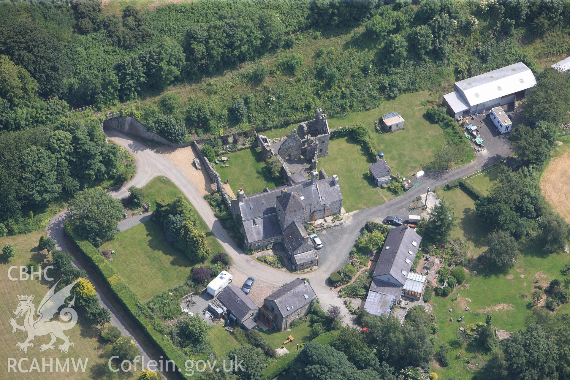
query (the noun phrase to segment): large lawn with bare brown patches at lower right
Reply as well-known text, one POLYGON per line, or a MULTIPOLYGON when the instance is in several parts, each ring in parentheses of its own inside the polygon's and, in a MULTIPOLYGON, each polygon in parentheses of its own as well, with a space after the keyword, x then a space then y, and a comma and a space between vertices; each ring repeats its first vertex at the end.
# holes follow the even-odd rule
MULTIPOLYGON (((496 328, 515 332, 524 328, 525 318, 532 312, 533 282, 540 277, 540 281, 548 285, 554 278, 562 279, 561 269, 568 261, 568 255, 552 254, 543 255, 538 246, 530 246, 521 251, 514 268, 507 273, 484 275, 484 269, 473 267, 470 271, 479 270, 477 275, 468 275, 465 281, 469 288, 458 287, 451 295, 442 298, 434 296, 431 305, 439 326, 437 345, 446 343, 451 350, 447 357, 450 359, 449 367, 436 370, 440 379, 446 379, 451 375, 459 378, 470 378, 471 371, 467 369, 466 359, 471 363, 486 359, 485 354, 473 352, 470 348, 458 348, 453 340, 459 327, 457 318, 465 316, 463 321, 467 325, 473 322, 484 322, 488 311, 492 317, 492 325, 496 328), (455 293, 459 297, 455 300, 455 293), (528 298, 522 295, 526 294, 528 298), (467 301, 469 299, 470 301, 467 301), (436 306, 437 305, 437 306, 436 306), (471 310, 465 311, 465 307, 471 310), (453 309, 450 313, 449 309, 453 309), (449 322, 453 318, 454 322, 449 322), (463 350, 461 359, 455 359, 459 350, 463 350), (480 356, 478 358, 478 356, 480 356)), ((543 284, 543 285, 544 285, 543 284)), ((558 312, 568 312, 568 304, 558 312)))

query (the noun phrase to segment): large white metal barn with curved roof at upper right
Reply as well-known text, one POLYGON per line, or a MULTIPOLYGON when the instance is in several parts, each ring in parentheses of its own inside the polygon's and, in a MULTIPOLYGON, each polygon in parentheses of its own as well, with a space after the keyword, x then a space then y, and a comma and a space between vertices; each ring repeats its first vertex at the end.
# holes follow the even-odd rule
POLYGON ((457 119, 514 103, 535 84, 536 79, 530 68, 518 62, 455 82, 454 91, 443 95, 443 104, 457 119))

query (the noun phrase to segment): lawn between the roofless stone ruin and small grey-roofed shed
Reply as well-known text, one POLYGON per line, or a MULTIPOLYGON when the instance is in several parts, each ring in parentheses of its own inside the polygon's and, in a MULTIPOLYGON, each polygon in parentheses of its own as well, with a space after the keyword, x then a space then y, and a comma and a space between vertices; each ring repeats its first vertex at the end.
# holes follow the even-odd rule
POLYGON ((343 207, 347 212, 381 205, 386 199, 394 198, 388 190, 381 190, 367 177, 368 166, 372 165, 352 137, 331 140, 328 156, 319 158, 317 169, 324 169, 329 177, 339 176, 343 193, 343 207))

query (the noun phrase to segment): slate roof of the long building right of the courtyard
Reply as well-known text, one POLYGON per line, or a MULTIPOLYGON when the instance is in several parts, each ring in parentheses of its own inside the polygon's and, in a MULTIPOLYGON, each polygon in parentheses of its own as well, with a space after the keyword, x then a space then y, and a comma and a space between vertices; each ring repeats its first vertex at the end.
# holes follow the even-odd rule
POLYGON ((412 228, 392 228, 386 236, 373 277, 389 273, 400 283, 405 284, 421 240, 421 236, 416 234, 412 228), (415 246, 413 242, 416 242, 415 246))

